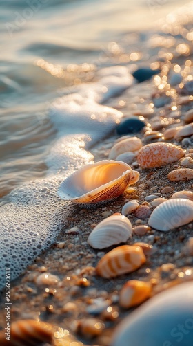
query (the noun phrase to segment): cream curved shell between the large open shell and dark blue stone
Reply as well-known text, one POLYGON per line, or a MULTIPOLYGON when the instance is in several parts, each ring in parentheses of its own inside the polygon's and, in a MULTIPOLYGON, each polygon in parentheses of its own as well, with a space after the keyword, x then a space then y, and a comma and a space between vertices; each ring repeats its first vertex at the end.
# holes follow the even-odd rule
POLYGON ((110 150, 109 159, 114 160, 119 154, 124 152, 136 152, 142 147, 140 138, 130 137, 116 143, 110 150))

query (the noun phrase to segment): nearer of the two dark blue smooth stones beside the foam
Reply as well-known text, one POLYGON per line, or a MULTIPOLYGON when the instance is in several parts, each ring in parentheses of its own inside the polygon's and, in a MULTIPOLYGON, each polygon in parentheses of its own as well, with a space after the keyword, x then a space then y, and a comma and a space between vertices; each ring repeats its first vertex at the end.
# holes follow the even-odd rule
POLYGON ((138 118, 128 118, 123 120, 123 122, 116 127, 116 132, 119 135, 136 134, 140 132, 143 127, 145 127, 145 122, 142 120, 138 118))

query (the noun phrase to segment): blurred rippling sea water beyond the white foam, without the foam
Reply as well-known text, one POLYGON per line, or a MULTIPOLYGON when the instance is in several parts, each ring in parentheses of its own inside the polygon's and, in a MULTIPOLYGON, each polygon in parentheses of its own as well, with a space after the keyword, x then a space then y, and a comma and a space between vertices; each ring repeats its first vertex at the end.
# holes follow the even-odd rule
POLYGON ((186 3, 0 0, 0 196, 45 175, 55 138, 47 110, 59 90, 137 60, 131 54, 145 52, 144 33, 186 3))

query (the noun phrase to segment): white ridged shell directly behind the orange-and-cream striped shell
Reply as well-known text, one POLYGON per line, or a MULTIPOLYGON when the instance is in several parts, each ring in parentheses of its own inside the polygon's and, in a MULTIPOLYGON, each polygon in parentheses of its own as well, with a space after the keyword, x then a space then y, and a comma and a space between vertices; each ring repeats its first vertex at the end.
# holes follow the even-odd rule
POLYGON ((108 246, 126 242, 130 235, 132 235, 130 220, 116 213, 94 227, 88 237, 88 244, 92 248, 108 248, 108 246))

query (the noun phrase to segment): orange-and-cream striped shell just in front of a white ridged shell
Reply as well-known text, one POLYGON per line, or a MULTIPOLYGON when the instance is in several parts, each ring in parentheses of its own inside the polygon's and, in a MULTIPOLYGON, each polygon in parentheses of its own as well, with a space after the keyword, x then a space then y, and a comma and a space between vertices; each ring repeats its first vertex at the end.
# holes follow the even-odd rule
POLYGON ((116 277, 138 269, 146 258, 140 246, 122 245, 106 253, 96 266, 101 277, 116 277))

